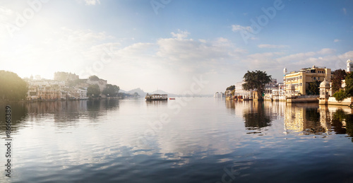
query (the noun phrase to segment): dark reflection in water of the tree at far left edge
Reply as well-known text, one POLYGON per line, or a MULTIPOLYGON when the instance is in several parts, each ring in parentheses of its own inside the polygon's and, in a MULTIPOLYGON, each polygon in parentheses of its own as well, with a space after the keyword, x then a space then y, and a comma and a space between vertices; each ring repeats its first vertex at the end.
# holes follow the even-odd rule
MULTIPOLYGON (((18 130, 21 126, 21 123, 27 117, 27 108, 25 104, 22 102, 13 102, 10 104, 1 103, 0 104, 0 132, 1 134, 5 134, 6 131, 6 123, 5 123, 5 107, 6 105, 10 105, 11 107, 11 133, 13 134, 18 130)), ((5 135, 3 136, 5 137, 5 135)), ((2 138, 2 137, 1 137, 2 138)))

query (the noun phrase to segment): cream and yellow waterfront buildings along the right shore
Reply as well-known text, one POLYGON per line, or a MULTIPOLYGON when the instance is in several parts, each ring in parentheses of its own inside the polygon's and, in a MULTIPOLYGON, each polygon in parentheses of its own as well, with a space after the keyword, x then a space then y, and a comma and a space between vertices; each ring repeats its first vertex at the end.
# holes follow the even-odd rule
MULTIPOLYGON (((346 72, 353 71, 353 61, 347 60, 346 72)), ((290 71, 283 69, 283 83, 277 83, 277 79, 265 85, 264 100, 287 101, 287 102, 320 102, 322 104, 343 104, 350 105, 350 99, 343 102, 335 101, 332 97, 330 82, 332 71, 324 66, 312 66, 310 68, 300 69, 299 71, 290 71), (320 95, 308 95, 309 83, 319 81, 320 95), (349 100, 349 101, 348 101, 349 100)), ((242 85, 244 81, 235 84, 235 91, 225 92, 226 98, 253 100, 257 98, 256 90, 244 90, 242 85)), ((344 88, 345 81, 342 81, 344 88)))

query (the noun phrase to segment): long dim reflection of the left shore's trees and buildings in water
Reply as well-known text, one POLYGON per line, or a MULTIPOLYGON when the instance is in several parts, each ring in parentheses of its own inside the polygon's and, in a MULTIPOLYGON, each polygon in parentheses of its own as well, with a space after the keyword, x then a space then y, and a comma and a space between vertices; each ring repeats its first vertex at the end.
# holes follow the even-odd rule
MULTIPOLYGON (((4 134, 6 103, 0 103, 0 133, 4 134)), ((119 100, 73 100, 55 102, 13 102, 11 106, 11 132, 15 132, 25 119, 42 118, 47 114, 53 115, 55 124, 72 126, 82 117, 96 119, 107 110, 116 110, 119 100)), ((93 122, 93 121, 92 121, 93 122)))

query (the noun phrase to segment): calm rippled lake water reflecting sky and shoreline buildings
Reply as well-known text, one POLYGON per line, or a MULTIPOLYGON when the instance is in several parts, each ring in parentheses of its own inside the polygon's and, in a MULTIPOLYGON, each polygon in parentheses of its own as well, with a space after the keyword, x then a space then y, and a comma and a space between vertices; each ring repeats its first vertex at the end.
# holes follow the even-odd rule
POLYGON ((11 107, 11 178, 2 145, 0 182, 353 182, 349 107, 215 98, 11 107))

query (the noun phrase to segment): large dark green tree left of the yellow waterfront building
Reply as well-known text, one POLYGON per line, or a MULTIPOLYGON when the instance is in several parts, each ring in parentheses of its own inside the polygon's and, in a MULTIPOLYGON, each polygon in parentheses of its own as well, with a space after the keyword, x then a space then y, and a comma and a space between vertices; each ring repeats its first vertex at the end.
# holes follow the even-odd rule
POLYGON ((263 99, 263 90, 265 84, 270 83, 271 76, 267 75, 265 71, 248 71, 244 75, 245 83, 242 85, 244 90, 257 90, 258 100, 263 99))

